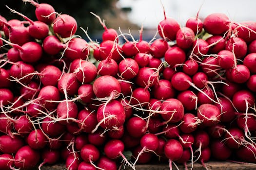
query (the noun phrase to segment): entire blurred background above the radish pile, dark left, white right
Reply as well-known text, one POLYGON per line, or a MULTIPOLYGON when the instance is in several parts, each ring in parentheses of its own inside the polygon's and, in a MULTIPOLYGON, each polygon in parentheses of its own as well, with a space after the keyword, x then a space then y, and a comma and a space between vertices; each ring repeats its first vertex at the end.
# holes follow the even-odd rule
MULTIPOLYGON (((256 21, 256 0, 38 0, 38 2, 49 3, 56 12, 76 18, 79 27, 87 29, 90 37, 93 40, 97 39, 98 42, 104 30, 98 19, 90 12, 104 19, 108 28, 116 30, 120 28, 123 33, 128 33, 130 30, 135 38, 138 38, 139 29, 143 25, 144 40, 150 40, 156 34, 158 23, 164 18, 162 5, 166 16, 175 18, 181 26, 185 25, 189 17, 196 17, 199 9, 201 19, 218 12, 226 14, 235 22, 256 21)), ((0 0, 0 15, 7 20, 22 19, 17 14, 11 14, 5 5, 36 20, 35 7, 28 2, 0 0)), ((81 29, 78 29, 77 34, 86 39, 81 29)))

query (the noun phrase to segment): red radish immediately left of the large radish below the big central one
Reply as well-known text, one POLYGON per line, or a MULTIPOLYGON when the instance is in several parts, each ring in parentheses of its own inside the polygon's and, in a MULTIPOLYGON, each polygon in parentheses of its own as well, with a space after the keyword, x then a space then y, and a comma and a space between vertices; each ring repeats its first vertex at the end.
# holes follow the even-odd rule
POLYGON ((98 121, 94 111, 82 109, 78 113, 79 128, 81 131, 90 133, 96 127, 98 121))

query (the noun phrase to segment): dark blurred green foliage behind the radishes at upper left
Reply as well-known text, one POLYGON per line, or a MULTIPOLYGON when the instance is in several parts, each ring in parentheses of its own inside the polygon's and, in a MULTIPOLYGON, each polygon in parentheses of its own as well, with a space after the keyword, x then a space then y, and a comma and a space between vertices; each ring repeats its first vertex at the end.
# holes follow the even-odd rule
MULTIPOLYGON (((98 16, 102 16, 103 13, 118 15, 113 8, 116 1, 117 0, 38 0, 39 3, 49 3, 58 13, 68 14, 74 17, 78 22, 78 27, 82 27, 85 30, 88 29, 88 34, 93 34, 96 30, 103 29, 98 19, 90 14, 90 12, 98 16)), ((32 20, 36 20, 36 8, 29 2, 24 3, 22 0, 0 0, 1 16, 5 17, 7 20, 22 20, 17 14, 11 13, 5 5, 26 15, 32 20)), ((77 34, 84 35, 80 28, 78 28, 77 34)))

